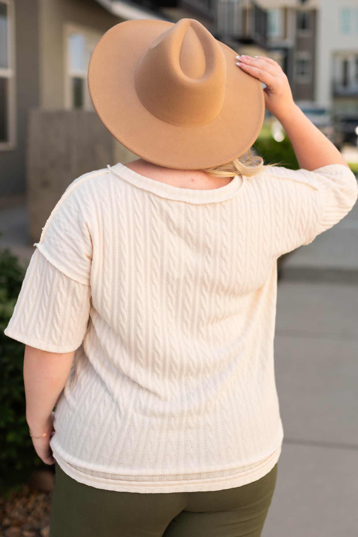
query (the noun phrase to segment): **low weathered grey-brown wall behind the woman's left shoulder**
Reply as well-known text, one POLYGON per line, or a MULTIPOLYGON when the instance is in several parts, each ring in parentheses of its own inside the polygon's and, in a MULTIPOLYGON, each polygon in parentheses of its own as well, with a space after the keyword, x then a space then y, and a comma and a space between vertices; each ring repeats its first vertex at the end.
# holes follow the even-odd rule
POLYGON ((112 136, 94 112, 32 110, 28 116, 27 208, 31 242, 74 179, 112 163, 112 136))

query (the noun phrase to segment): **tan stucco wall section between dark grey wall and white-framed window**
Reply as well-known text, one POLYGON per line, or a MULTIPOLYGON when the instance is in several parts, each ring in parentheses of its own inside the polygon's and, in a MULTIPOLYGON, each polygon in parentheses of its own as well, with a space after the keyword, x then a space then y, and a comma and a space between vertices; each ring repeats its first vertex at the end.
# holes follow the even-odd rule
MULTIPOLYGON (((25 0, 26 1, 26 0, 25 0)), ((121 19, 95 0, 39 0, 40 2, 40 106, 65 106, 64 26, 73 23, 105 33, 121 19)))

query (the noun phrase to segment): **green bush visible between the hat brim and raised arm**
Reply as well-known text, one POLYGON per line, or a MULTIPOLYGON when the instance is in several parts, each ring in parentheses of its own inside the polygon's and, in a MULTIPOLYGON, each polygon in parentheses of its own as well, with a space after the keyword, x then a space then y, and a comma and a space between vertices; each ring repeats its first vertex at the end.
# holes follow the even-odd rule
POLYGON ((264 125, 257 138, 254 149, 260 155, 265 164, 279 164, 285 168, 298 170, 299 165, 295 156, 295 151, 287 136, 282 142, 276 142, 271 135, 271 129, 264 125))

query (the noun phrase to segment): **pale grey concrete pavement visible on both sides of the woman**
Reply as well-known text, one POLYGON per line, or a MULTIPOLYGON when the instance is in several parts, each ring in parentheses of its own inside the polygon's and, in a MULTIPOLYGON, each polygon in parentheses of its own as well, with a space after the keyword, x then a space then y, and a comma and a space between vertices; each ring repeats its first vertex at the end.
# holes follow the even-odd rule
MULTIPOLYGON (((0 211, 0 246, 23 259, 25 207, 0 211)), ((275 371, 284 427, 262 537, 358 537, 358 204, 284 258, 275 371)))

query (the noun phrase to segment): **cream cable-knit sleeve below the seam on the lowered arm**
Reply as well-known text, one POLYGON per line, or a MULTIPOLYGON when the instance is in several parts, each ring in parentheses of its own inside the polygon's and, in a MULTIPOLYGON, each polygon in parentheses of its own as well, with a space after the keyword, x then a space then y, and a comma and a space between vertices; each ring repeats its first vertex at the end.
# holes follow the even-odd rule
POLYGON ((48 352, 71 352, 87 330, 91 288, 35 250, 5 335, 48 352))

